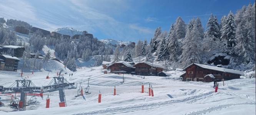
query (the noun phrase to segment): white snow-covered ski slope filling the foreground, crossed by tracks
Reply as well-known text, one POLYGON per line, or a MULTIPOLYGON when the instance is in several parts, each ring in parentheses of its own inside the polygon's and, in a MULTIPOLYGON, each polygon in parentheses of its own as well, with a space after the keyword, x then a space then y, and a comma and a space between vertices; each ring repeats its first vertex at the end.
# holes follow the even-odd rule
MULTIPOLYGON (((63 69, 63 68, 62 68, 63 69)), ((56 76, 57 69, 50 72, 50 77, 56 76)), ((66 71, 70 73, 70 71, 66 71)), ((20 72, 0 71, 0 85, 10 86, 16 79, 21 79, 20 72)), ((5 106, 0 107, 0 115, 255 115, 255 79, 234 79, 219 82, 219 90, 214 92, 213 82, 182 82, 176 80, 183 72, 170 71, 170 77, 132 76, 124 74, 103 74, 102 67, 78 69, 73 76, 64 76, 69 82, 80 82, 86 88, 89 81, 91 94, 85 95, 86 100, 77 95, 77 90, 65 90, 67 107, 59 107, 58 91, 44 93, 43 99, 37 97, 37 102, 28 105, 25 111, 10 108, 10 95, 0 94, 5 106), (145 84, 141 93, 141 83, 145 84), (154 97, 148 95, 149 83, 152 84, 154 97), (113 95, 114 86, 116 94, 113 95), (102 94, 98 103, 99 90, 102 94), (45 108, 49 95, 50 108, 45 108)), ((45 79, 48 72, 35 72, 28 79, 41 87, 48 85, 50 79, 45 79)), ((84 92, 85 94, 85 92, 84 92)), ((16 96, 19 96, 17 94, 16 96)), ((31 96, 27 96, 27 100, 31 96)))

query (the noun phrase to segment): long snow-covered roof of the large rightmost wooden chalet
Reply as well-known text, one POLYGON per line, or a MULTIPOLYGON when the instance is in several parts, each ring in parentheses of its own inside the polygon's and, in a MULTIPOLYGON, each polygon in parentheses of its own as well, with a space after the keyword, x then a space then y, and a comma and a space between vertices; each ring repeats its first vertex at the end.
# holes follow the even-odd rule
MULTIPOLYGON (((217 67, 217 66, 208 66, 208 65, 204 65, 204 64, 196 64, 193 63, 199 67, 202 67, 204 69, 211 69, 211 70, 215 70, 215 71, 221 71, 221 72, 225 72, 225 73, 232 73, 232 74, 238 74, 241 76, 244 76, 244 72, 242 71, 237 71, 237 70, 233 70, 233 69, 226 69, 226 68, 222 68, 222 67, 217 67)), ((192 64, 190 64, 189 66, 191 66, 192 64)), ((188 68, 189 66, 185 67, 183 70, 185 70, 186 68, 188 68)))

